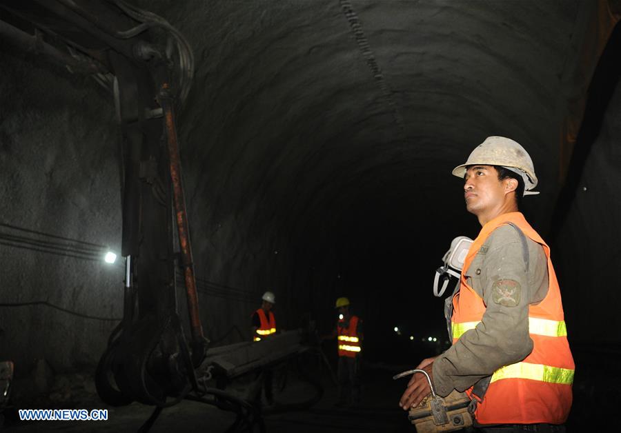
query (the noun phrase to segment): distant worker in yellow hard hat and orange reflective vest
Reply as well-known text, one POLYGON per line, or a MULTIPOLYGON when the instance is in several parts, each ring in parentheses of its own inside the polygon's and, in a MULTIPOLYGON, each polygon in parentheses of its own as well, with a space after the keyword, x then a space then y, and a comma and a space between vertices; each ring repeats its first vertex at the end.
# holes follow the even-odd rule
POLYGON ((339 321, 335 330, 326 338, 337 337, 339 363, 337 379, 339 381, 339 401, 337 405, 345 406, 360 403, 360 354, 362 353, 362 319, 350 314, 349 299, 339 298, 336 308, 339 321))

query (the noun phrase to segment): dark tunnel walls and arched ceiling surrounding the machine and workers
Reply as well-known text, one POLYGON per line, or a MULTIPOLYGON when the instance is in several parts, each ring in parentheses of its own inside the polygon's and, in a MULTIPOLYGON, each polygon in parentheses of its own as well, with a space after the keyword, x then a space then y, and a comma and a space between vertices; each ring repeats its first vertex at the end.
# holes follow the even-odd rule
MULTIPOLYGON (((0 361, 14 363, 23 407, 52 393, 55 376, 92 374, 124 316, 129 151, 119 143, 132 132, 113 74, 55 63, 43 48, 124 64, 121 48, 67 12, 83 8, 92 15, 77 19, 96 17, 98 29, 135 25, 119 3, 0 4, 0 361), (9 27, 39 36, 24 48, 9 27), (108 250, 119 256, 112 265, 108 250)), ((279 329, 310 319, 318 335, 333 330, 335 300, 347 296, 364 319, 364 362, 380 370, 448 348, 433 275, 451 239, 481 228, 451 170, 500 135, 526 148, 539 178, 540 194, 520 210, 551 246, 560 281, 576 361, 569 430, 618 401, 619 1, 128 3, 164 17, 193 53, 176 126, 210 348, 250 341, 266 290, 279 329)), ((137 81, 137 94, 153 86, 137 81)), ((160 143, 161 126, 146 126, 159 120, 144 116, 141 133, 160 143)), ((176 275, 171 302, 189 335, 176 275)), ((334 342, 321 347, 335 365, 334 342)), ((399 396, 386 406, 397 409, 399 396)))

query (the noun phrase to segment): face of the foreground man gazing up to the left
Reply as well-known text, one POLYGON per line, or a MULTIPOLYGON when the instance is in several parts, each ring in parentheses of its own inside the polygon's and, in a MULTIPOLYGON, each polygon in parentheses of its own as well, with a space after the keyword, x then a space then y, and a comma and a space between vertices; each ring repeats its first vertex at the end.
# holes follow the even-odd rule
POLYGON ((498 180, 498 172, 491 165, 473 165, 464 177, 464 199, 471 214, 480 215, 499 208, 504 203, 506 185, 498 180))

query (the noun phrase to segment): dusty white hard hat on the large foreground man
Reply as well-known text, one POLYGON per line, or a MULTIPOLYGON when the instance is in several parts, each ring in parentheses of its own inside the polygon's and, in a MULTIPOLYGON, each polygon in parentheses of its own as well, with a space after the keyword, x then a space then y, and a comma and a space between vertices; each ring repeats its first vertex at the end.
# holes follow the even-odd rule
POLYGON ((524 179, 524 195, 539 194, 531 191, 537 186, 535 166, 529 152, 511 139, 506 137, 487 137, 483 143, 477 145, 468 157, 468 161, 457 165, 453 174, 462 179, 466 175, 466 165, 501 165, 502 167, 520 174, 524 179))

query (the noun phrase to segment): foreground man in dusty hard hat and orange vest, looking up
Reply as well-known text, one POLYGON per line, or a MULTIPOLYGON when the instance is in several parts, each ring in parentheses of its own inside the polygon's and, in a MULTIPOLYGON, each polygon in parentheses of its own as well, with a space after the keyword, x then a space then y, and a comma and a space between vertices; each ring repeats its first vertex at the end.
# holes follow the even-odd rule
MULTIPOLYGON (((518 210, 523 195, 537 194, 533 161, 519 143, 488 137, 453 174, 482 230, 447 303, 453 345, 417 368, 440 396, 466 390, 482 432, 564 432, 574 363, 559 285, 549 246, 518 210)), ((415 374, 400 406, 429 393, 415 374)))

